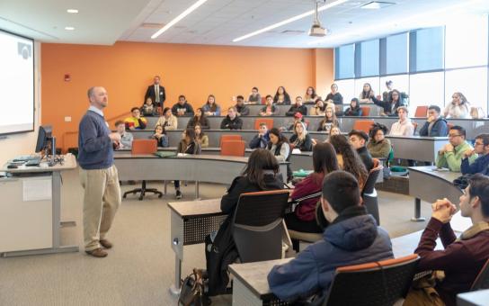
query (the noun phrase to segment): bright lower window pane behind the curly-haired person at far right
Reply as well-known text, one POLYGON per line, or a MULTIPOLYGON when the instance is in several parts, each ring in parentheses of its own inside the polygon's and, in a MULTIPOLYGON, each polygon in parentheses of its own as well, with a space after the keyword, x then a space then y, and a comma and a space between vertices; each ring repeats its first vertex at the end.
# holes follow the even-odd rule
POLYGON ((464 94, 470 106, 487 112, 487 67, 457 69, 445 74, 445 105, 451 103, 455 92, 464 94))

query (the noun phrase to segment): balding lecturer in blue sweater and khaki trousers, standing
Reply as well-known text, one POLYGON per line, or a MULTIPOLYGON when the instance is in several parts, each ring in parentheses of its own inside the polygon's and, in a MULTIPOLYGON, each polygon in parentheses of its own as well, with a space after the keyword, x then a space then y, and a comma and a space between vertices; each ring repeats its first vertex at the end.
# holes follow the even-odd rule
POLYGON ((78 163, 84 187, 84 250, 93 257, 106 257, 112 244, 106 235, 120 206, 120 185, 114 166, 113 146, 120 133, 111 132, 103 118, 108 95, 103 87, 88 89, 90 107, 79 125, 78 163))

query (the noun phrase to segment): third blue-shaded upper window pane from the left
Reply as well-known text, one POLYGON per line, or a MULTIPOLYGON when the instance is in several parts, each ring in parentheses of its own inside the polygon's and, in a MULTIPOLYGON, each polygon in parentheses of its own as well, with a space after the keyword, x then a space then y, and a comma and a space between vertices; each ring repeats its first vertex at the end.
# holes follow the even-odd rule
POLYGON ((387 37, 387 74, 406 73, 408 71, 408 37, 407 33, 387 37))

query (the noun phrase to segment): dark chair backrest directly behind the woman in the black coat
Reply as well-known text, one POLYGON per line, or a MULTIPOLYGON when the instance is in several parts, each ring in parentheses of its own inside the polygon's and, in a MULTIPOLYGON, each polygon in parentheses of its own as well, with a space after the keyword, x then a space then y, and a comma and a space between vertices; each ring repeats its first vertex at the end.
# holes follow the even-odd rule
POLYGON ((243 263, 279 259, 282 254, 283 216, 289 191, 243 193, 233 218, 233 238, 243 263))

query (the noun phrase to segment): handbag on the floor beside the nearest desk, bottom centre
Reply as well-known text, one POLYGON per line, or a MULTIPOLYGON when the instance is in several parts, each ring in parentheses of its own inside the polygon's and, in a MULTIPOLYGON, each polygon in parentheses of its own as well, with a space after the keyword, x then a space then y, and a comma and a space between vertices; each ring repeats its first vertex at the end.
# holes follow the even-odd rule
POLYGON ((191 275, 185 277, 182 281, 178 305, 183 306, 204 306, 209 305, 209 297, 204 295, 204 280, 196 269, 193 269, 191 275))

